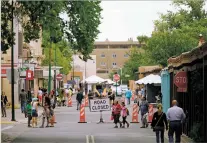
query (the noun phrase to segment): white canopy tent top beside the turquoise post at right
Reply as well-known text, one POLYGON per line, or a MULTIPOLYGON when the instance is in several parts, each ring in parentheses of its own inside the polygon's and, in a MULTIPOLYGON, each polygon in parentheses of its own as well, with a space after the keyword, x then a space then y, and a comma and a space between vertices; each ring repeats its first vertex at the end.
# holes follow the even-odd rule
POLYGON ((161 84, 161 77, 159 75, 150 74, 138 81, 136 84, 161 84))

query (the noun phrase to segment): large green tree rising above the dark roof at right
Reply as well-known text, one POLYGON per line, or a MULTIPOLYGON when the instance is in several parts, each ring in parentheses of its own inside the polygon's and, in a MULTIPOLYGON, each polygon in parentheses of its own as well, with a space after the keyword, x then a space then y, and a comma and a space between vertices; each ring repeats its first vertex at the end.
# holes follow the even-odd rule
POLYGON ((155 31, 147 42, 152 60, 163 66, 168 58, 178 56, 198 45, 198 36, 207 38, 207 12, 204 0, 174 0, 178 12, 168 11, 155 21, 155 31), (184 9, 183 7, 188 7, 184 9))

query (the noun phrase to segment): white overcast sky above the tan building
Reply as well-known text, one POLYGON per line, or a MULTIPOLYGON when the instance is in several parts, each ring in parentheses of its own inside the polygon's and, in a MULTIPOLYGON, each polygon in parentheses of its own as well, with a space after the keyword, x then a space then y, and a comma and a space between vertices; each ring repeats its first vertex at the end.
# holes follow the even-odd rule
MULTIPOLYGON (((151 36, 153 21, 159 19, 159 13, 176 11, 171 3, 170 0, 102 1, 100 34, 96 41, 127 41, 129 38, 137 41, 137 36, 151 36)), ((66 14, 63 17, 68 19, 66 14)))

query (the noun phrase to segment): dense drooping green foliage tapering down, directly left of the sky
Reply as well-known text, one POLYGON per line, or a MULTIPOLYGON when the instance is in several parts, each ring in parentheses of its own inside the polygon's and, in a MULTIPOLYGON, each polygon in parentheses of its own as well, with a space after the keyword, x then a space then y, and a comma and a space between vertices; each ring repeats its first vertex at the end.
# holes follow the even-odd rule
POLYGON ((67 1, 66 12, 69 17, 66 35, 72 48, 83 55, 83 60, 91 59, 94 41, 99 34, 101 23, 100 1, 67 1))

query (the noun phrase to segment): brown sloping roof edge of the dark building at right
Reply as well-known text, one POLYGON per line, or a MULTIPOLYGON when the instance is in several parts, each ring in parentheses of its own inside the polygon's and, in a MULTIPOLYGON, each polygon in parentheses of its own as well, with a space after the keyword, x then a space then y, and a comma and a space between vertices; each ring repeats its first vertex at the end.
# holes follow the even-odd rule
POLYGON ((167 60, 168 67, 179 67, 183 64, 189 64, 197 59, 207 55, 207 42, 191 51, 180 54, 177 57, 171 57, 167 60))

